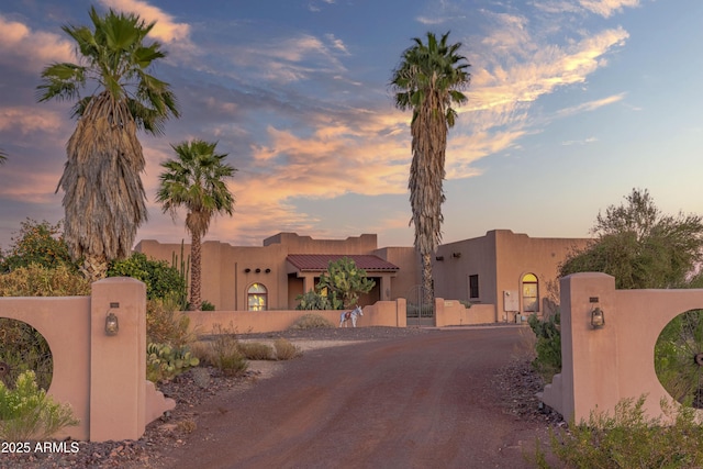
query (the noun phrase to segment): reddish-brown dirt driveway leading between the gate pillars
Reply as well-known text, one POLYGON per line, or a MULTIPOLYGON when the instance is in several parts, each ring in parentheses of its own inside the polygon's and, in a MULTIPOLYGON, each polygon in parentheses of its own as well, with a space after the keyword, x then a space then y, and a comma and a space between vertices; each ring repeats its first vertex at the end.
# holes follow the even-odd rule
POLYGON ((308 351, 197 409, 169 466, 531 467, 523 446, 546 431, 506 414, 492 382, 520 340, 516 328, 473 328, 308 351))

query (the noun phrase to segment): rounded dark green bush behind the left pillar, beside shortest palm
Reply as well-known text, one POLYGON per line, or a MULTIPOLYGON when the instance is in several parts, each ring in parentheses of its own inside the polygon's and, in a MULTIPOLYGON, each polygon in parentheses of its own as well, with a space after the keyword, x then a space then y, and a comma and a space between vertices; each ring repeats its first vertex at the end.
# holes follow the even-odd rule
POLYGON ((126 259, 113 261, 108 269, 108 277, 131 277, 143 281, 148 300, 178 295, 186 288, 186 280, 178 269, 164 260, 148 259, 142 253, 133 253, 126 259))

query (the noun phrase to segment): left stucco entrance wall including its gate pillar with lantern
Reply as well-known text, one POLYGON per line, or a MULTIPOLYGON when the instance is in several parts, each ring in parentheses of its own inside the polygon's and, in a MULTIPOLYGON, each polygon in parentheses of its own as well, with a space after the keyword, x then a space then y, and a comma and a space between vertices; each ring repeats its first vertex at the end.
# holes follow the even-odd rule
POLYGON ((91 289, 90 297, 0 298, 0 317, 30 324, 48 343, 48 394, 80 420, 56 437, 138 439, 146 424, 176 405, 146 381, 146 289, 120 277, 91 289), (119 320, 114 336, 104 332, 108 311, 119 320))

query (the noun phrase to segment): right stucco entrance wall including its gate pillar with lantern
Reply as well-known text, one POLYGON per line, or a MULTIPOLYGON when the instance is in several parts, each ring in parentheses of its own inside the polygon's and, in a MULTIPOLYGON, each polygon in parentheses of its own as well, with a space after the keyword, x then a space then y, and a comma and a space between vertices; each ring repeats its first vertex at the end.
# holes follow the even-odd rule
POLYGON ((655 344, 673 317, 703 309, 703 290, 615 290, 605 273, 568 276, 560 288, 562 371, 543 401, 578 422, 596 407, 612 413, 621 400, 647 394, 645 412, 660 416, 660 400, 671 398, 655 372, 655 344), (590 325, 594 305, 605 313, 599 330, 590 325))

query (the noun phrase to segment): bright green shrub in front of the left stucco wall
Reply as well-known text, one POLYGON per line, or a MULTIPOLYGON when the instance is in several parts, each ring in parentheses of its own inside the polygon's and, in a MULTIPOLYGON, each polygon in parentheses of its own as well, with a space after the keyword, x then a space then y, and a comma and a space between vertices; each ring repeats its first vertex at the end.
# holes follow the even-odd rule
POLYGON ((68 404, 59 404, 40 389, 33 371, 16 380, 14 390, 0 382, 0 439, 46 439, 66 426, 78 425, 68 404))

